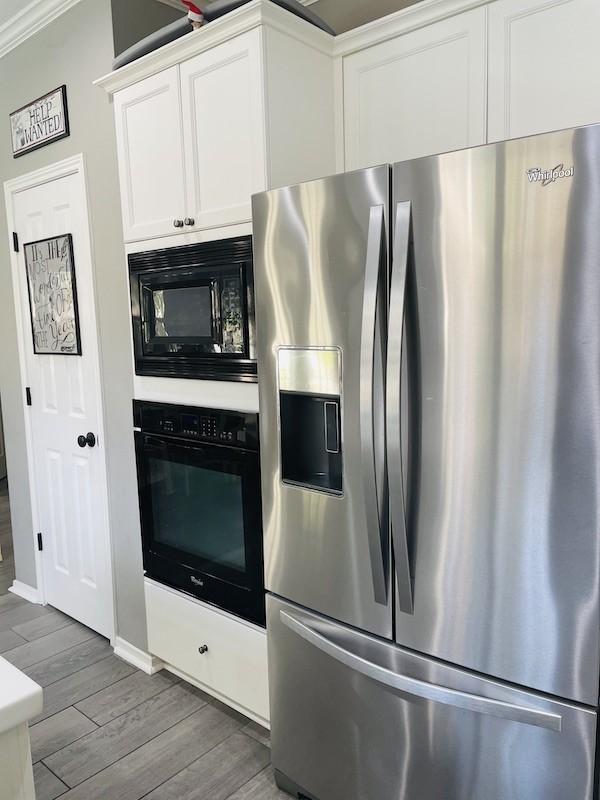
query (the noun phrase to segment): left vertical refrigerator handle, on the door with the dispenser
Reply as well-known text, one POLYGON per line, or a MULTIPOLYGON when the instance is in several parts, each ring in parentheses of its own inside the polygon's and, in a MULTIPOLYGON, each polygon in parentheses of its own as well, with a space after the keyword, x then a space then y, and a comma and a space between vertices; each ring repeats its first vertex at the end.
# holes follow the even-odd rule
MULTIPOLYGON (((373 416, 374 362, 377 300, 384 236, 383 206, 372 206, 365 265, 360 345, 360 450, 369 555, 375 602, 387 605, 388 587, 381 538, 381 513, 377 497, 375 431, 373 416)), ((381 474, 381 473, 380 473, 381 474)))

